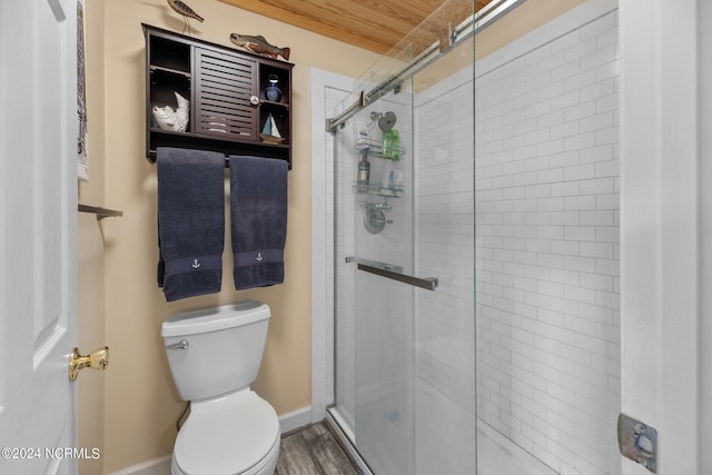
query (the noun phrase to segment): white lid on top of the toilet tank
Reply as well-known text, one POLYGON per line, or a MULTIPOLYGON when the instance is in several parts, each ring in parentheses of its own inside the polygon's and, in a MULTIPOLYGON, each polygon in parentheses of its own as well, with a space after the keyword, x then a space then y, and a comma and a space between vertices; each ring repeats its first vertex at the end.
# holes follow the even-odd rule
POLYGON ((256 300, 238 301, 174 315, 164 321, 160 335, 170 337, 216 331, 264 320, 269 316, 267 304, 256 300))

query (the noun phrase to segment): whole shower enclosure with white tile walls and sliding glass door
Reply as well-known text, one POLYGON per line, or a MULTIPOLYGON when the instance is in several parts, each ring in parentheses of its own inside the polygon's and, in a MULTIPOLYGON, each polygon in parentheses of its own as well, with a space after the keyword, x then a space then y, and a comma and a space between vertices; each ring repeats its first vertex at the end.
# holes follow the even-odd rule
POLYGON ((545 3, 445 1, 327 120, 328 419, 375 474, 620 474, 616 3, 545 3))

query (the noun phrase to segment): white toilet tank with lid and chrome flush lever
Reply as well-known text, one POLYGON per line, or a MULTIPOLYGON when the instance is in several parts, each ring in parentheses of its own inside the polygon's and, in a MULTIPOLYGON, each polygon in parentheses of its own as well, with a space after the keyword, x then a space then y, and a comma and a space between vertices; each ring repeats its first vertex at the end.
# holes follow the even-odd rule
POLYGON ((160 335, 180 397, 205 399, 248 387, 257 378, 269 316, 266 304, 250 300, 164 321, 160 335))

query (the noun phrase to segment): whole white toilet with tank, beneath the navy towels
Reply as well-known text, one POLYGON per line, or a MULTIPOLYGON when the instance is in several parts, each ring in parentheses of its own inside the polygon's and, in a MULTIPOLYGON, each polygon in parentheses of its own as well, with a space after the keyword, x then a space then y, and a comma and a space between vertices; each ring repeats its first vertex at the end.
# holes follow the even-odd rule
POLYGON ((273 475, 279 419, 249 385, 267 339, 260 301, 187 311, 161 326, 168 365, 190 415, 178 432, 172 475, 273 475))

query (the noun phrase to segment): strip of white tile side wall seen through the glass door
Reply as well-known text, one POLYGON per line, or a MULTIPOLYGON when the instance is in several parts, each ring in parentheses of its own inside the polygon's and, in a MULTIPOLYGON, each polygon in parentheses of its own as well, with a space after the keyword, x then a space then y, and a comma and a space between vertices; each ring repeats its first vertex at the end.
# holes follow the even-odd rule
POLYGON ((417 125, 418 376, 475 420, 475 215, 472 69, 425 91, 417 125), (456 82, 464 79, 466 82, 456 82))

